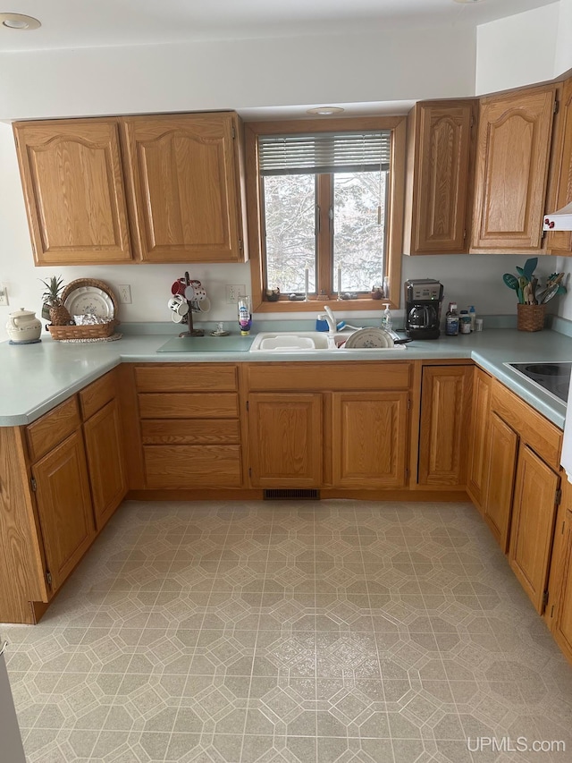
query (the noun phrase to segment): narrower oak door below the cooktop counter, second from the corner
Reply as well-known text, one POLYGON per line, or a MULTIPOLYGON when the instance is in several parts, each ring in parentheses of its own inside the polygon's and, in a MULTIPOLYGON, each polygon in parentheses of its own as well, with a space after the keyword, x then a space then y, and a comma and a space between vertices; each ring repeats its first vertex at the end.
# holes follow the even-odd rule
POLYGON ((517 466, 518 436, 491 413, 489 420, 487 482, 484 519, 502 551, 509 545, 510 512, 517 466))

